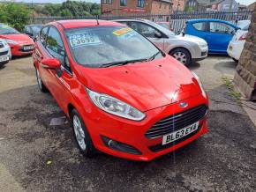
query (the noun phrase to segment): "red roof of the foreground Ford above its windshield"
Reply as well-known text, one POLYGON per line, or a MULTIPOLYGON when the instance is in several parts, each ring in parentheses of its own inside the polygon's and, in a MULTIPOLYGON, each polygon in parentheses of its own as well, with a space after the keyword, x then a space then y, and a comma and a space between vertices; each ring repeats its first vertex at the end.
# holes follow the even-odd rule
POLYGON ((124 26, 123 24, 107 20, 98 20, 97 22, 97 19, 58 20, 49 23, 49 25, 54 26, 56 26, 57 24, 63 26, 64 29, 81 28, 87 26, 124 26))

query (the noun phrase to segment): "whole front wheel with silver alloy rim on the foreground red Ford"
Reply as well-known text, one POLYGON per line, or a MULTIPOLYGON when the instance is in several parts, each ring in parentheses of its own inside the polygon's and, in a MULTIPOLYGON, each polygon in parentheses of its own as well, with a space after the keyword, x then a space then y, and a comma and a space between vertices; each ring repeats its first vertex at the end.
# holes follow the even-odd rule
POLYGON ((72 128, 79 151, 87 158, 93 158, 95 155, 95 148, 92 139, 87 131, 87 127, 80 117, 76 109, 72 110, 72 128))

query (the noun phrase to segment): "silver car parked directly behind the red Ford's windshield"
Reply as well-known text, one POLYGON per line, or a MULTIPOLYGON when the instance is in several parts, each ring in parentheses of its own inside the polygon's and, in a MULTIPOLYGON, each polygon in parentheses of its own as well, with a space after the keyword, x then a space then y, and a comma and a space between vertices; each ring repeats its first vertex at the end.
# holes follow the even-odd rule
POLYGON ((201 38, 192 35, 175 35, 168 29, 146 19, 118 19, 116 21, 143 34, 162 51, 185 65, 207 57, 207 42, 201 38))

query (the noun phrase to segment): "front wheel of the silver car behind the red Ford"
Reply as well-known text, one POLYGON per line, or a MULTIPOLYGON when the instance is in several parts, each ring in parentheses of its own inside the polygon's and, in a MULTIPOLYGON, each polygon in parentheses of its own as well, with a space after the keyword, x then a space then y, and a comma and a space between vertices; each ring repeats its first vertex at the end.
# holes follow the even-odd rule
POLYGON ((184 65, 190 65, 192 63, 190 52, 185 48, 175 48, 169 52, 169 55, 173 56, 184 65))

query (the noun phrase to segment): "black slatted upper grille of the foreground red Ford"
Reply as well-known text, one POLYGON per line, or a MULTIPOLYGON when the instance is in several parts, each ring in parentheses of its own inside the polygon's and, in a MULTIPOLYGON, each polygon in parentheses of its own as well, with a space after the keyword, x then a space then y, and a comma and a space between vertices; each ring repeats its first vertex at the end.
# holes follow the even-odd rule
POLYGON ((192 125, 200 121, 207 114, 207 106, 192 107, 184 112, 173 114, 156 122, 153 127, 147 130, 147 138, 162 137, 178 129, 192 125))

